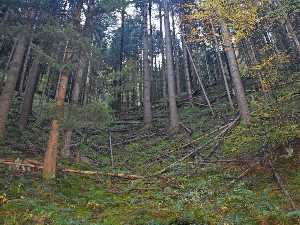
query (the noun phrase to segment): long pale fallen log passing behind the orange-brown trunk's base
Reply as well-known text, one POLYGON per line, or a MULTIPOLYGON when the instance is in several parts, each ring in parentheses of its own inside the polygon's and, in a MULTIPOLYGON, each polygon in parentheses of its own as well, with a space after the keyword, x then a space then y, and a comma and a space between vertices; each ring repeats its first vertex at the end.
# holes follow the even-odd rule
MULTIPOLYGON (((43 166, 36 166, 36 165, 32 165, 32 164, 23 164, 23 163, 5 162, 5 161, 0 161, 0 164, 19 165, 19 166, 25 166, 25 167, 34 167, 34 168, 38 168, 38 169, 43 168, 43 166)), ((71 170, 71 169, 66 169, 66 168, 62 168, 62 167, 57 167, 57 170, 62 171, 62 172, 96 174, 96 175, 111 176, 111 177, 124 177, 124 178, 135 178, 135 179, 146 178, 146 176, 139 176, 139 175, 104 173, 104 172, 85 171, 85 170, 71 170)))

